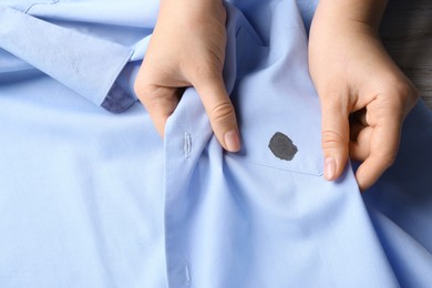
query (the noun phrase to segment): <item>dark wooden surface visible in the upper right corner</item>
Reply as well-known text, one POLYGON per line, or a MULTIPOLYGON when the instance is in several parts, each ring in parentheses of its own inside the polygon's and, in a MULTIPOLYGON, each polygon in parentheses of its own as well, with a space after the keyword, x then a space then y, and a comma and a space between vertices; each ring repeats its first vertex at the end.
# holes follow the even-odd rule
POLYGON ((432 109, 432 1, 390 0, 380 34, 390 55, 432 109))

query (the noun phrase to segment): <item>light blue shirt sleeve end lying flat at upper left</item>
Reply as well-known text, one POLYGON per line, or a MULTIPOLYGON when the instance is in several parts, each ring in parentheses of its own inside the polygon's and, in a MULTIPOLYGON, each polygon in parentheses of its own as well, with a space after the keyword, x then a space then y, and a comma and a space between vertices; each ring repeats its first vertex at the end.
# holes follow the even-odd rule
POLYGON ((116 85, 133 50, 0 6, 0 49, 96 105, 119 113, 135 97, 116 85))

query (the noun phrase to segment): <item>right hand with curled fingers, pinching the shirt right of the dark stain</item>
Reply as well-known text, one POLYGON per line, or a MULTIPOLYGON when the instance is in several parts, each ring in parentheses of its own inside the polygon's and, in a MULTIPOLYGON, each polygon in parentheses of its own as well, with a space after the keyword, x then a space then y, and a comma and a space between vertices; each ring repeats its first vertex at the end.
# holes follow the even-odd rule
POLYGON ((385 1, 322 0, 310 34, 309 65, 322 111, 325 177, 341 175, 348 155, 370 187, 393 163, 418 91, 385 52, 378 25, 385 1), (351 13, 352 12, 352 13, 351 13))

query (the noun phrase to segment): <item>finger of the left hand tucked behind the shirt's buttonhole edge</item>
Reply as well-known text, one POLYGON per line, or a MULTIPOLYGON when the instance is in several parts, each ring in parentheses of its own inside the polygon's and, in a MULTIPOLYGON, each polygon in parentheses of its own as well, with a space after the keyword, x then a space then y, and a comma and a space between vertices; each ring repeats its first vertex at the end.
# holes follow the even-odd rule
POLYGON ((135 93, 147 110, 158 134, 163 137, 165 124, 178 104, 179 90, 164 86, 136 88, 135 93))

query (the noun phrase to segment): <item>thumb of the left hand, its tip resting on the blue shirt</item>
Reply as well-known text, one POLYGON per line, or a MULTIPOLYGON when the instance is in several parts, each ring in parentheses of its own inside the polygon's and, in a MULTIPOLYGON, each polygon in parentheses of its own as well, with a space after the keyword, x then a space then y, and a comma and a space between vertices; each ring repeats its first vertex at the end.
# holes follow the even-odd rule
POLYGON ((220 145, 226 151, 238 152, 240 137, 236 114, 222 75, 200 79, 193 84, 203 101, 212 128, 220 145))

